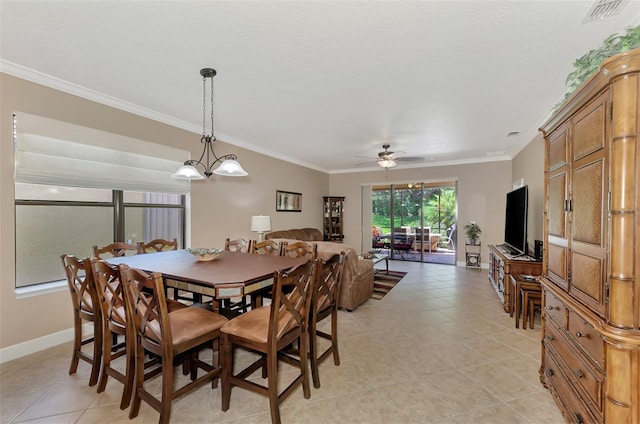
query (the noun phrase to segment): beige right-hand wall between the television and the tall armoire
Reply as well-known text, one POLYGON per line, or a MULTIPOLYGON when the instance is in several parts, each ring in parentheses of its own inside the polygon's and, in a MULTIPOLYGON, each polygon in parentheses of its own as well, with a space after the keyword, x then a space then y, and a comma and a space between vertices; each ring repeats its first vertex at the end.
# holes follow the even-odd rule
POLYGON ((520 178, 528 186, 527 243, 533 255, 534 240, 542 240, 544 219, 544 138, 539 134, 511 161, 513 181, 520 178))

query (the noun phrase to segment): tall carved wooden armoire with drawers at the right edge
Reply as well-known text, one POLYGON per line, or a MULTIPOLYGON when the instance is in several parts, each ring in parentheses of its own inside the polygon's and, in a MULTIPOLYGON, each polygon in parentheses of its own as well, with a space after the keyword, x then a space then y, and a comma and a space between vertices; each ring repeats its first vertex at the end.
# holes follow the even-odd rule
POLYGON ((605 61, 545 136, 540 377, 572 423, 640 423, 640 49, 605 61))

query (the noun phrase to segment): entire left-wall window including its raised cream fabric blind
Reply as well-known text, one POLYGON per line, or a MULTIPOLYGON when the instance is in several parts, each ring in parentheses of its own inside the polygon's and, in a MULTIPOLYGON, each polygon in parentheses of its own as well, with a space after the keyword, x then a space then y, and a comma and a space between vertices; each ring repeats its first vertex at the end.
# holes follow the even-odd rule
POLYGON ((171 174, 188 152, 14 114, 16 288, 63 280, 62 254, 94 245, 177 238, 188 181, 171 174))

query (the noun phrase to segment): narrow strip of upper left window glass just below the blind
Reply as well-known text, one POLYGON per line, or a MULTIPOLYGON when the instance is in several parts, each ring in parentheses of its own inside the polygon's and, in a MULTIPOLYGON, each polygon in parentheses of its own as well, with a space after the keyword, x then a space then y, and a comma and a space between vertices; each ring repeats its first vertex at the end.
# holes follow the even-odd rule
POLYGON ((111 190, 16 183, 16 200, 111 202, 111 190))

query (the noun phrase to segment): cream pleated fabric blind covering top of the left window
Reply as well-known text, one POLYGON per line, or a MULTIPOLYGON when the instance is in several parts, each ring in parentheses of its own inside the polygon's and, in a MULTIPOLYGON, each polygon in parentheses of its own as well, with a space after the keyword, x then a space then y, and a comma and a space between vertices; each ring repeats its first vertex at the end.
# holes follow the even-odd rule
POLYGON ((188 180, 171 175, 184 150, 16 113, 15 180, 87 188, 186 194, 188 180))

